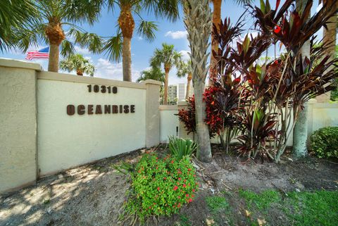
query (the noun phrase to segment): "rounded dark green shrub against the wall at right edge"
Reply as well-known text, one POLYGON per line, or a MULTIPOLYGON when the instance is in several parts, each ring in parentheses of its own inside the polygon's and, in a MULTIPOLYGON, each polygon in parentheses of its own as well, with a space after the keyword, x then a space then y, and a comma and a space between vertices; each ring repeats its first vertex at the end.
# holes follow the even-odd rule
POLYGON ((324 127, 313 132, 311 149, 319 158, 338 158, 338 127, 324 127))

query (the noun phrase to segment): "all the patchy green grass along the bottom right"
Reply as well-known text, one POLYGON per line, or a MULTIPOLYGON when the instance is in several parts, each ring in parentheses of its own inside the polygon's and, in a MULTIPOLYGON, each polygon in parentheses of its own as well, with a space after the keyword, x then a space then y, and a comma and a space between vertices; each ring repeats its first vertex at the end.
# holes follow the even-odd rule
POLYGON ((244 203, 243 210, 249 213, 245 216, 246 225, 258 225, 258 218, 265 221, 264 225, 338 225, 338 191, 288 192, 282 195, 275 190, 256 193, 239 189, 232 194, 207 196, 206 203, 215 225, 234 225, 236 219, 243 219, 246 213, 232 211, 241 203, 244 203))

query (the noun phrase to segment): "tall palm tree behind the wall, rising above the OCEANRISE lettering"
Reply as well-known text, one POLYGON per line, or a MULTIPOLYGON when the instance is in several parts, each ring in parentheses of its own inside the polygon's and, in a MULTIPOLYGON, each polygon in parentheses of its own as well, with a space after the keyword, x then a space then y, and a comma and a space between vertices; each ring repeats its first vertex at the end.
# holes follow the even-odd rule
MULTIPOLYGON (((101 0, 105 1, 105 0, 101 0)), ((132 81, 131 41, 135 28, 134 15, 139 17, 137 34, 148 41, 153 41, 158 27, 154 21, 144 20, 141 11, 154 12, 156 17, 168 18, 172 21, 178 18, 179 0, 116 0, 108 1, 108 8, 120 8, 118 31, 115 37, 106 41, 104 51, 110 61, 120 61, 122 56, 123 81, 132 81)))

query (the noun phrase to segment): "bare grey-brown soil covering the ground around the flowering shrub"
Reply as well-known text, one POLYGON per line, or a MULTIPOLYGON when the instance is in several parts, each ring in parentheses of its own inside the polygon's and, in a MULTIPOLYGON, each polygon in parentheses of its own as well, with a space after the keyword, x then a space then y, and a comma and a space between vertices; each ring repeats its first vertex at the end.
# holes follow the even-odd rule
MULTIPOLYGON (((105 158, 42 178, 18 192, 2 194, 0 225, 124 225, 118 216, 130 181, 113 165, 121 161, 136 162, 144 151, 105 158)), ((165 153, 165 145, 157 147, 156 151, 165 153)), ((196 158, 193 162, 201 182, 196 199, 182 208, 180 214, 151 219, 148 225, 182 225, 182 215, 189 217, 190 225, 208 225, 206 220, 211 213, 206 206, 206 196, 225 192, 231 192, 229 201, 235 207, 232 225, 247 225, 238 189, 254 192, 276 189, 282 193, 296 189, 338 189, 338 164, 311 156, 292 161, 285 155, 279 164, 262 164, 223 153, 215 145, 212 163, 200 163, 196 158)), ((271 215, 275 222, 283 221, 277 213, 271 215)), ((224 219, 221 225, 230 224, 225 215, 219 218, 224 219)))

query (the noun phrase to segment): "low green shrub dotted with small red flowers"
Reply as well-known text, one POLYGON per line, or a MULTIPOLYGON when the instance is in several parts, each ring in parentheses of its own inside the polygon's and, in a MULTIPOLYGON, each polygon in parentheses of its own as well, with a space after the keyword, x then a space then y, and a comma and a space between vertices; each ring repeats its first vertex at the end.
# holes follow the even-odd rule
POLYGON ((181 160, 145 154, 130 173, 132 186, 125 211, 141 222, 151 215, 171 215, 194 199, 198 187, 189 157, 181 160))

